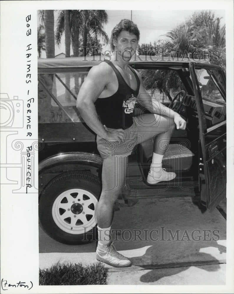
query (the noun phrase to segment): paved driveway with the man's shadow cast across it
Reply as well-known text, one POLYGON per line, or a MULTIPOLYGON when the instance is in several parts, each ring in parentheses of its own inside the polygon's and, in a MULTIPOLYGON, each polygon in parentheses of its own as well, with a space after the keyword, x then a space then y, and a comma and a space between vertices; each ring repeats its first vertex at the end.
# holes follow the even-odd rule
MULTIPOLYGON (((140 199, 133 207, 120 201, 119 207, 112 238, 116 249, 131 259, 132 266, 120 270, 106 265, 110 284, 177 284, 180 278, 170 282, 168 277, 189 275, 191 269, 197 275, 191 274, 184 282, 187 285, 192 283, 191 278, 192 284, 204 285, 202 279, 197 279, 203 271, 225 284, 226 220, 217 209, 212 213, 201 210, 192 197, 140 199)), ((40 268, 58 260, 95 263, 95 245, 61 244, 39 229, 40 268)))

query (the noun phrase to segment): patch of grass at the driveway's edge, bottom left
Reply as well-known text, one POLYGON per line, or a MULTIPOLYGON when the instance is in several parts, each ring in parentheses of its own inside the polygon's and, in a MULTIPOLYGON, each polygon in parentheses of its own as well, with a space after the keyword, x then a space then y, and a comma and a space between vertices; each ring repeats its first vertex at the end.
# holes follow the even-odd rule
POLYGON ((39 269, 39 285, 106 285, 107 268, 96 263, 83 267, 81 263, 53 265, 39 269))

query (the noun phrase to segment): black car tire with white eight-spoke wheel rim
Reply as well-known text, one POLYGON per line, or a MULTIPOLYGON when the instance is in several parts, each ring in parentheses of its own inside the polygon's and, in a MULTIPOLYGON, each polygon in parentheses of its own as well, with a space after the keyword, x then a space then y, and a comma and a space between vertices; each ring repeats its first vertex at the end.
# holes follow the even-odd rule
POLYGON ((45 232, 65 244, 95 240, 100 186, 99 178, 85 171, 56 176, 39 199, 39 220, 45 232))

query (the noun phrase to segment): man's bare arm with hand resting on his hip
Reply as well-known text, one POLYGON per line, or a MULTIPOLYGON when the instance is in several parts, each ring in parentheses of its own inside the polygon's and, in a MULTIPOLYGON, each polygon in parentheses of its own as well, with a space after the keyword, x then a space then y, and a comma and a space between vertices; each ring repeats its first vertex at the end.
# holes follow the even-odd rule
POLYGON ((108 72, 103 70, 103 65, 93 66, 80 87, 76 107, 85 123, 98 136, 104 138, 105 140, 113 139, 120 142, 124 139, 124 131, 122 129, 118 129, 113 132, 108 131, 100 122, 94 105, 95 101, 105 88, 107 81, 108 72))

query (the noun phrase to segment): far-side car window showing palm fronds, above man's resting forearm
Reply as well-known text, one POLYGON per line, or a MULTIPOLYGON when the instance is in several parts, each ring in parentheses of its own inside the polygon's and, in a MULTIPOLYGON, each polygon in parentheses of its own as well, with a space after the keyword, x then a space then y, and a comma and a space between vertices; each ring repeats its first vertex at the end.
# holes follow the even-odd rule
POLYGON ((161 69, 139 69, 144 88, 152 98, 169 103, 182 90, 182 81, 177 71, 161 69))

